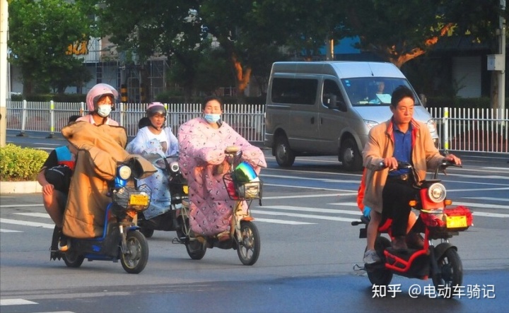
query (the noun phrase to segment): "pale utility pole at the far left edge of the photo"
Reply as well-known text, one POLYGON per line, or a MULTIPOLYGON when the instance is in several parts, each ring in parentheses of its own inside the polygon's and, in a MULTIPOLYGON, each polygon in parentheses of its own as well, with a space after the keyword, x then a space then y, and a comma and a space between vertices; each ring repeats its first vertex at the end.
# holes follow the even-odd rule
POLYGON ((8 3, 0 0, 0 147, 6 145, 7 131, 7 33, 8 3))

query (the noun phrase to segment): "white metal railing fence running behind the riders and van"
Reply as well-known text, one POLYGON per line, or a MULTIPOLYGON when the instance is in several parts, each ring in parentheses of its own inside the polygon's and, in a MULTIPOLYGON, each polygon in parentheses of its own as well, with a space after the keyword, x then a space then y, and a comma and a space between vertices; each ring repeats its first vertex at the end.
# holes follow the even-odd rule
MULTIPOLYGON (((199 103, 169 103, 168 126, 177 134, 178 127, 201 114, 199 103)), ((121 103, 111 114, 136 136, 138 122, 145 115, 146 104, 121 103)), ((85 103, 7 101, 7 129, 59 133, 71 115, 86 114, 85 103)), ((223 119, 251 142, 263 142, 264 105, 226 104, 223 119)), ((444 150, 509 153, 509 110, 430 108, 437 124, 444 150), (503 113, 503 114, 502 114, 503 113)))

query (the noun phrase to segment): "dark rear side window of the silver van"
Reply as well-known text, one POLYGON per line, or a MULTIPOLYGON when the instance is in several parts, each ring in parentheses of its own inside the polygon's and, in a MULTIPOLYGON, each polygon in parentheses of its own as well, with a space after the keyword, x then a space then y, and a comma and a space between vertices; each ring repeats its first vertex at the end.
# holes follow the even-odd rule
POLYGON ((315 105, 317 87, 317 79, 274 78, 271 100, 276 103, 315 105))

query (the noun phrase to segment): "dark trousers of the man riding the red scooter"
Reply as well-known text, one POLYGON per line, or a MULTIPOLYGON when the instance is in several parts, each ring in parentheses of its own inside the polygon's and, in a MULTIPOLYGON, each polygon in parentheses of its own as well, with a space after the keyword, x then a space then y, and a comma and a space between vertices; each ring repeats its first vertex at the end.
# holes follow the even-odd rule
POLYGON ((416 199, 417 189, 412 187, 412 179, 390 179, 382 191, 382 218, 391 218, 391 231, 393 237, 406 235, 411 208, 409 201, 416 199))

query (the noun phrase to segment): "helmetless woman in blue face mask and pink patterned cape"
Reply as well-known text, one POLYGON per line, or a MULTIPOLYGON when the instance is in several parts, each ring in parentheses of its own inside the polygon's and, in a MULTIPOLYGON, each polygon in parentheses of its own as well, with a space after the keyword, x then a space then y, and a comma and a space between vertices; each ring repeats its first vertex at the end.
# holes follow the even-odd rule
MULTIPOLYGON (((223 175, 228 171, 225 148, 238 146, 242 150, 242 159, 257 173, 261 167, 267 167, 267 163, 262 150, 221 121, 223 103, 219 98, 206 98, 201 110, 202 117, 179 128, 179 165, 189 184, 191 229, 197 235, 217 235, 219 238, 229 229, 235 206, 223 182, 223 175)), ((247 210, 246 205, 243 210, 247 210)))

